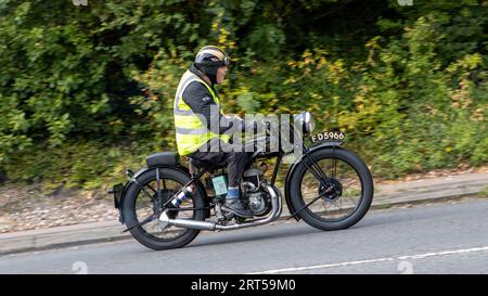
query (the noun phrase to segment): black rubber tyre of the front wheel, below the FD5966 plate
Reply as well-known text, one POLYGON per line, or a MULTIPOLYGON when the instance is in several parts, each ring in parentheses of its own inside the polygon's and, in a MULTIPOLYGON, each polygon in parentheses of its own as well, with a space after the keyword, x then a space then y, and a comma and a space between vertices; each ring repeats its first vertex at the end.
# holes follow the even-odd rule
MULTIPOLYGON (((317 162, 325 158, 335 158, 348 164, 356 171, 357 176, 359 176, 361 193, 357 207, 344 219, 328 221, 314 215, 308 207, 304 208, 298 214, 299 217, 301 217, 309 226, 325 231, 347 229, 359 222, 369 210, 373 201, 373 178, 368 166, 355 153, 339 147, 334 150, 332 147, 316 150, 311 155, 317 162)), ((311 165, 307 157, 304 157, 304 162, 306 162, 307 166, 311 165)), ((299 163, 291 177, 290 198, 295 210, 300 209, 306 205, 301 195, 301 182, 304 175, 308 171, 307 166, 299 163)))

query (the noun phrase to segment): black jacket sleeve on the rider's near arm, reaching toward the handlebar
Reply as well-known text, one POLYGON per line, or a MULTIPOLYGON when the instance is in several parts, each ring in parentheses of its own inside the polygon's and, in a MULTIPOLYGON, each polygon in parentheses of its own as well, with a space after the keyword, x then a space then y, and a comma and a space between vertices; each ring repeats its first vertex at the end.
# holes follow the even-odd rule
POLYGON ((191 82, 184 90, 182 99, 195 114, 205 118, 204 124, 211 132, 221 134, 232 128, 232 120, 218 111, 218 105, 210 92, 201 82, 191 82))

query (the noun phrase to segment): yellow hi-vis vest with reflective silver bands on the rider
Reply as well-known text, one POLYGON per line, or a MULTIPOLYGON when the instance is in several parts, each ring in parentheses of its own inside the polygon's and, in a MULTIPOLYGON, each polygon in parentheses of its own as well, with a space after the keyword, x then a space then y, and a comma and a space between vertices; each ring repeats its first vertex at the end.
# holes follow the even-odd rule
POLYGON ((214 101, 219 107, 219 112, 222 113, 220 101, 217 95, 215 95, 214 90, 198 76, 194 75, 190 70, 187 70, 178 85, 174 104, 176 141, 178 153, 182 156, 195 152, 211 138, 220 138, 220 140, 226 143, 228 143, 230 139, 230 136, 228 134, 218 134, 209 131, 200 117, 193 113, 187 103, 184 103, 182 98, 183 92, 193 81, 198 81, 208 89, 214 101))

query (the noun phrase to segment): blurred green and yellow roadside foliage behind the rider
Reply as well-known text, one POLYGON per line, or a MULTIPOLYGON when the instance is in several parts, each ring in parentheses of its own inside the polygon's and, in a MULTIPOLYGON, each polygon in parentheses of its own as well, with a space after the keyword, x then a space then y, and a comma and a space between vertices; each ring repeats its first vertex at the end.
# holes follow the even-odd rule
POLYGON ((197 49, 227 112, 312 112, 376 176, 488 160, 488 1, 0 1, 0 171, 97 188, 172 150, 197 49))

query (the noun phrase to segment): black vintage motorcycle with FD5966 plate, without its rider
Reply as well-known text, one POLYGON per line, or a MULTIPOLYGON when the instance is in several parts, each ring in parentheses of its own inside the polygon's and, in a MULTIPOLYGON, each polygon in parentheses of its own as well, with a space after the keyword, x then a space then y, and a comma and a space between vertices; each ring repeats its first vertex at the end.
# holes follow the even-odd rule
MULTIPOLYGON (((373 200, 368 166, 342 147, 343 133, 311 136, 314 120, 309 112, 294 115, 287 125, 292 130, 287 141, 301 149, 281 183, 290 218, 325 231, 356 224, 373 200), (312 145, 305 145, 306 137, 312 145)), ((275 139, 270 133, 267 126, 265 136, 247 143, 254 152, 240 190, 241 202, 254 218, 237 217, 224 207, 226 168, 191 157, 184 166, 177 153, 162 152, 147 156, 146 167, 136 173, 127 170, 129 180, 110 190, 125 232, 149 248, 168 249, 189 244, 201 230, 236 230, 277 220, 283 198, 275 181, 284 157, 293 151, 283 149, 282 134, 275 139), (278 143, 278 151, 270 151, 270 143, 278 143), (272 173, 267 160, 274 162, 272 173)))

